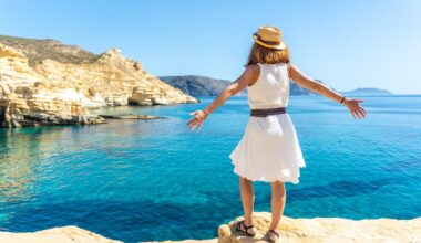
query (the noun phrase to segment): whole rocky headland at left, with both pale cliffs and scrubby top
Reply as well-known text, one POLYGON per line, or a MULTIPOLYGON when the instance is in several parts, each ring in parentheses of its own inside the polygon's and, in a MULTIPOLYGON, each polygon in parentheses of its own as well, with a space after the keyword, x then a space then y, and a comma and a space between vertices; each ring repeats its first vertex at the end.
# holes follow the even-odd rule
POLYGON ((196 102, 116 49, 94 55, 52 40, 0 36, 3 127, 95 124, 103 119, 88 108, 196 102))

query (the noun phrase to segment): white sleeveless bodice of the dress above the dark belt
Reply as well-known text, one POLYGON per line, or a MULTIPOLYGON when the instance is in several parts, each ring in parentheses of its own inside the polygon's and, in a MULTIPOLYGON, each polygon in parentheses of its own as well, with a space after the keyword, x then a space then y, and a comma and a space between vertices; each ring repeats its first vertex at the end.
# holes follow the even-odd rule
POLYGON ((288 65, 261 64, 255 84, 248 86, 248 104, 251 109, 286 107, 289 96, 288 65))

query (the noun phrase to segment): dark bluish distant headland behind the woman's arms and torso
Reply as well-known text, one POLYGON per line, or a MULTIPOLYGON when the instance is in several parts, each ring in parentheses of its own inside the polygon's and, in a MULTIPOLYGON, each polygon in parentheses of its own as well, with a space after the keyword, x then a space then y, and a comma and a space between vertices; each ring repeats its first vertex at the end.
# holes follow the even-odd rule
MULTIPOLYGON (((207 76, 185 75, 185 76, 160 76, 165 83, 182 89, 183 92, 194 96, 216 96, 219 95, 232 82, 228 80, 218 80, 207 76)), ((319 81, 321 82, 321 81, 319 81)), ((247 89, 238 95, 246 95, 247 89)), ((290 95, 310 95, 315 94, 296 83, 290 83, 290 95)))

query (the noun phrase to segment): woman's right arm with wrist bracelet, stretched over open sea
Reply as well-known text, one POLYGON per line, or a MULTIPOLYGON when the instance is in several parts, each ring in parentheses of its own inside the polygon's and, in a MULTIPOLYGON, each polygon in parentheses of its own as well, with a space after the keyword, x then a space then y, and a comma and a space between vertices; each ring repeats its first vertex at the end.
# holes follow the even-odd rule
POLYGON ((341 103, 348 107, 355 118, 363 118, 367 115, 367 112, 360 103, 362 99, 346 98, 341 94, 335 92, 327 85, 317 82, 308 76, 306 76, 297 66, 288 65, 289 77, 295 81, 299 86, 308 88, 312 92, 316 92, 320 95, 324 95, 328 98, 331 98, 338 103, 341 103))

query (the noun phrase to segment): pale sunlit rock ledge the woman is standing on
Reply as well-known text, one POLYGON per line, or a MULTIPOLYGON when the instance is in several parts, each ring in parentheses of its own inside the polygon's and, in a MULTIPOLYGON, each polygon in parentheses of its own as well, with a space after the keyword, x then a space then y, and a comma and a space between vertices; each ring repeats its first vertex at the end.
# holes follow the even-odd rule
MULTIPOLYGON (((230 225, 239 216, 218 229, 218 243, 267 242, 264 234, 270 224, 270 213, 254 213, 258 231, 254 239, 233 233, 230 225)), ((337 243, 337 242, 420 242, 421 218, 413 220, 347 220, 340 218, 291 219, 283 216, 279 225, 280 241, 288 243, 337 243)))

